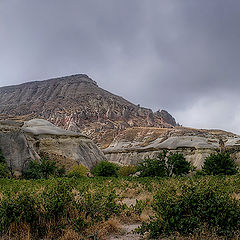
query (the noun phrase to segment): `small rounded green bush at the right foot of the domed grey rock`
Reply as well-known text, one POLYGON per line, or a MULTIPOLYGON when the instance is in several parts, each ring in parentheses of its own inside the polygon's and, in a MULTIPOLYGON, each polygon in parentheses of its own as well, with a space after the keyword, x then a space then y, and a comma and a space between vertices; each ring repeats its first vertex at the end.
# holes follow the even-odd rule
POLYGON ((91 170, 91 173, 94 176, 116 177, 118 169, 119 166, 114 163, 108 161, 101 161, 91 170))

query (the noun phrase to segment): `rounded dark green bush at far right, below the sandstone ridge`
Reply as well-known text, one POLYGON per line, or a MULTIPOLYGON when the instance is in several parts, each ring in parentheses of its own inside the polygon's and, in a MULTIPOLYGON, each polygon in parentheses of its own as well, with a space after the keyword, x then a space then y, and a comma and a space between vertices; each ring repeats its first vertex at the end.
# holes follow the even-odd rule
POLYGON ((238 172, 236 163, 227 152, 211 154, 205 159, 202 170, 208 175, 234 175, 238 172))

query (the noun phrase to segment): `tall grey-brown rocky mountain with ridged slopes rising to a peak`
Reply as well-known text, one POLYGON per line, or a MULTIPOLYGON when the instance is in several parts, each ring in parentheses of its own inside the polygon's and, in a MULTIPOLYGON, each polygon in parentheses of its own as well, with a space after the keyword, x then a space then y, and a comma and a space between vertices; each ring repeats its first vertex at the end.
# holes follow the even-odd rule
POLYGON ((101 148, 132 127, 173 128, 165 110, 154 113, 100 87, 85 74, 0 88, 0 119, 43 118, 90 136, 101 148))

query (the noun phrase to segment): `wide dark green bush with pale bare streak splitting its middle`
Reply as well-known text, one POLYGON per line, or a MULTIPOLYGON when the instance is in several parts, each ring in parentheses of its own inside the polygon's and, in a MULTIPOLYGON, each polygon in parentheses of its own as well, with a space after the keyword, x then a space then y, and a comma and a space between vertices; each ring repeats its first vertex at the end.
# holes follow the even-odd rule
POLYGON ((140 177, 171 177, 188 174, 191 164, 186 161, 182 154, 168 153, 164 150, 157 158, 147 158, 140 162, 137 171, 140 177))

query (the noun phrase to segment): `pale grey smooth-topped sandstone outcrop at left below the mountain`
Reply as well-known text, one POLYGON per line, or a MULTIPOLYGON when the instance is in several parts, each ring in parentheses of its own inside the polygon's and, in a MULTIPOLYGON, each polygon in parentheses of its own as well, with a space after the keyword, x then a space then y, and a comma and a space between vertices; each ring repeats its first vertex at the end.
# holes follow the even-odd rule
POLYGON ((16 175, 21 174, 31 160, 42 156, 67 169, 80 163, 91 168, 105 159, 85 135, 63 130, 43 119, 25 123, 0 121, 0 149, 16 175))

